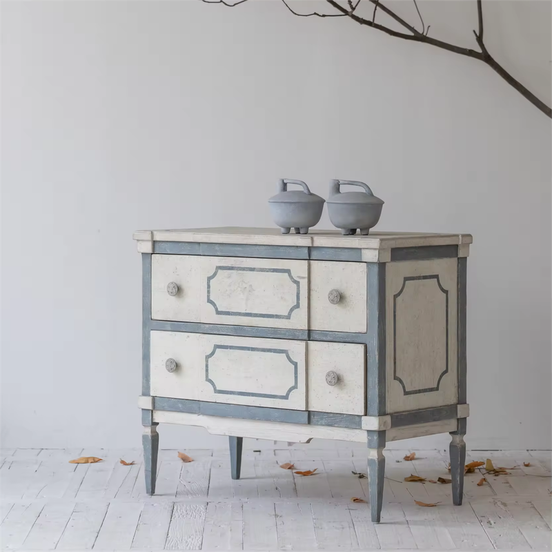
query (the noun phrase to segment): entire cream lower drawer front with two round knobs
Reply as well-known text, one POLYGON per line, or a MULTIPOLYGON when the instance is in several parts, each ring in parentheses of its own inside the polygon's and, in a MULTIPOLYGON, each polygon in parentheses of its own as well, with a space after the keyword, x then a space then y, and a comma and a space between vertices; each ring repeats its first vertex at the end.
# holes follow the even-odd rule
POLYGON ((364 415, 364 359, 362 344, 152 331, 151 395, 364 415))

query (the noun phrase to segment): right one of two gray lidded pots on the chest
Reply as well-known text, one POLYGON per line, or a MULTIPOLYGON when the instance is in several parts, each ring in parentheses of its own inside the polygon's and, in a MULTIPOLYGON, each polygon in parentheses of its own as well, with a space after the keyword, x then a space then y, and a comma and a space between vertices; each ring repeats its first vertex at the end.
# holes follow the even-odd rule
POLYGON ((384 202, 373 195, 372 190, 357 180, 330 181, 330 196, 328 197, 328 215, 336 228, 341 228, 343 235, 360 233, 367 236, 382 215, 384 202), (341 193, 339 186, 351 184, 361 186, 364 192, 341 193))

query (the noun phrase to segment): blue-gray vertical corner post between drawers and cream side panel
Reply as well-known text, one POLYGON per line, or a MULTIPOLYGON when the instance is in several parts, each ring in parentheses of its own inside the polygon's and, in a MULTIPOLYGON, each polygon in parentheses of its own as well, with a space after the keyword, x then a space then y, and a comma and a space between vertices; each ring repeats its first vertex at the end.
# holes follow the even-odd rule
POLYGON ((385 263, 367 263, 366 413, 386 414, 385 263))

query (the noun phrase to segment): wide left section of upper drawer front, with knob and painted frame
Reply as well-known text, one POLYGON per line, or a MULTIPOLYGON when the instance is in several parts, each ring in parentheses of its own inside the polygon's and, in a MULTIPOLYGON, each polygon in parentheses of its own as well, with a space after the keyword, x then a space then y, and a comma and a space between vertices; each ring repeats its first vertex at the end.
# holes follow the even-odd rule
POLYGON ((152 318, 308 328, 308 262, 152 255, 152 318))

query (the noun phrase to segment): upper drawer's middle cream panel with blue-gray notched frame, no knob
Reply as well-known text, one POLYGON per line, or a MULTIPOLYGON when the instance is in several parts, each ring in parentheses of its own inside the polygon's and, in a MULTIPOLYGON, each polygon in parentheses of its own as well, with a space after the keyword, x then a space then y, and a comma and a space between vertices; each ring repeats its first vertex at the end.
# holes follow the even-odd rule
POLYGON ((308 262, 202 257, 201 322, 307 329, 308 262))

